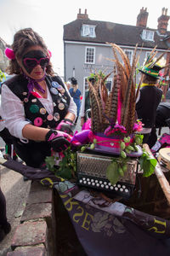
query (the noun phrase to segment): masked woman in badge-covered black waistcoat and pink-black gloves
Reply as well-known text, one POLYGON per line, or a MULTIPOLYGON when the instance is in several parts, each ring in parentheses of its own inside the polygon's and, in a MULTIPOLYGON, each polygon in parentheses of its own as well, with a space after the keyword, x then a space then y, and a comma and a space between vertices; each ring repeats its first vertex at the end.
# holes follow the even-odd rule
POLYGON ((14 35, 8 73, 16 74, 2 86, 2 115, 14 137, 16 154, 26 165, 39 167, 51 148, 68 147, 76 105, 65 83, 54 75, 51 53, 31 28, 14 35))

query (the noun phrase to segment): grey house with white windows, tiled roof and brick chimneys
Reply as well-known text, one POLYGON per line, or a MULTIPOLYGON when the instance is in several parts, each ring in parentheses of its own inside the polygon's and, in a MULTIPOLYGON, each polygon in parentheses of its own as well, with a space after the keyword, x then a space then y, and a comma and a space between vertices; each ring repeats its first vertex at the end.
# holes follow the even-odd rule
MULTIPOLYGON (((119 45, 127 54, 130 61, 133 60, 133 51, 138 44, 137 55, 139 66, 157 45, 158 55, 165 53, 164 58, 170 55, 170 32, 167 31, 169 16, 167 9, 162 9, 158 18, 157 29, 147 27, 149 13, 147 9, 140 9, 136 26, 122 25, 112 22, 90 20, 87 9, 85 13, 77 14, 77 20, 64 26, 64 72, 65 81, 71 77, 77 78, 80 90, 87 90, 87 78, 90 73, 102 71, 105 74, 113 69, 111 45, 119 45), (142 51, 141 51, 142 49, 142 51)), ((167 72, 167 77, 169 70, 167 72)), ((138 82, 138 78, 137 78, 138 82)), ((107 80, 107 88, 111 89, 112 78, 107 80)))

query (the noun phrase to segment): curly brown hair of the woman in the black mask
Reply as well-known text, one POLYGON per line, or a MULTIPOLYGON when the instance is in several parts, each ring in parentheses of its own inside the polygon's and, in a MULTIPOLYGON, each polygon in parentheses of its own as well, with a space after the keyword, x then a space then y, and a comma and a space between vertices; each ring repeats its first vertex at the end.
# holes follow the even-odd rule
MULTIPOLYGON (((16 57, 21 59, 22 56, 26 53, 26 50, 31 46, 41 46, 44 49, 45 53, 48 54, 48 48, 44 43, 42 37, 38 35, 37 32, 34 32, 31 28, 21 29, 20 31, 14 34, 14 42, 12 44, 12 49, 14 50, 15 59, 9 61, 9 66, 7 68, 8 74, 20 74, 22 73, 20 65, 18 64, 16 57)), ((54 71, 52 64, 49 61, 46 73, 53 75, 54 71)))

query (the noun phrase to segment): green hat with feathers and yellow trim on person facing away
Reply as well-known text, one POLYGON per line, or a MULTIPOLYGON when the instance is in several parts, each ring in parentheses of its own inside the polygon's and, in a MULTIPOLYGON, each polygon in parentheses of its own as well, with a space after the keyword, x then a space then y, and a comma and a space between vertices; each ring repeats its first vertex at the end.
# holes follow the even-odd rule
POLYGON ((163 54, 161 54, 158 58, 156 58, 156 47, 150 52, 147 60, 144 61, 144 66, 139 69, 141 73, 149 75, 155 79, 160 79, 160 70, 167 67, 166 60, 163 58, 163 54))

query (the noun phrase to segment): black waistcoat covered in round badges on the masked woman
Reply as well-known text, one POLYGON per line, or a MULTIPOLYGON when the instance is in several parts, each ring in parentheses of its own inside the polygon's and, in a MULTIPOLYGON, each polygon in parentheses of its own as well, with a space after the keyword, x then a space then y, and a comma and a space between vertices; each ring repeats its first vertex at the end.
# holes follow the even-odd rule
POLYGON ((53 114, 47 112, 36 96, 31 94, 28 97, 28 81, 23 75, 16 75, 14 78, 8 79, 5 82, 8 88, 20 98, 21 102, 23 102, 26 120, 29 120, 32 125, 39 127, 55 128, 56 125, 65 118, 71 97, 65 90, 65 85, 59 76, 47 76, 46 83, 48 84, 48 90, 54 103, 53 114), (57 84, 54 82, 57 82, 57 84))

